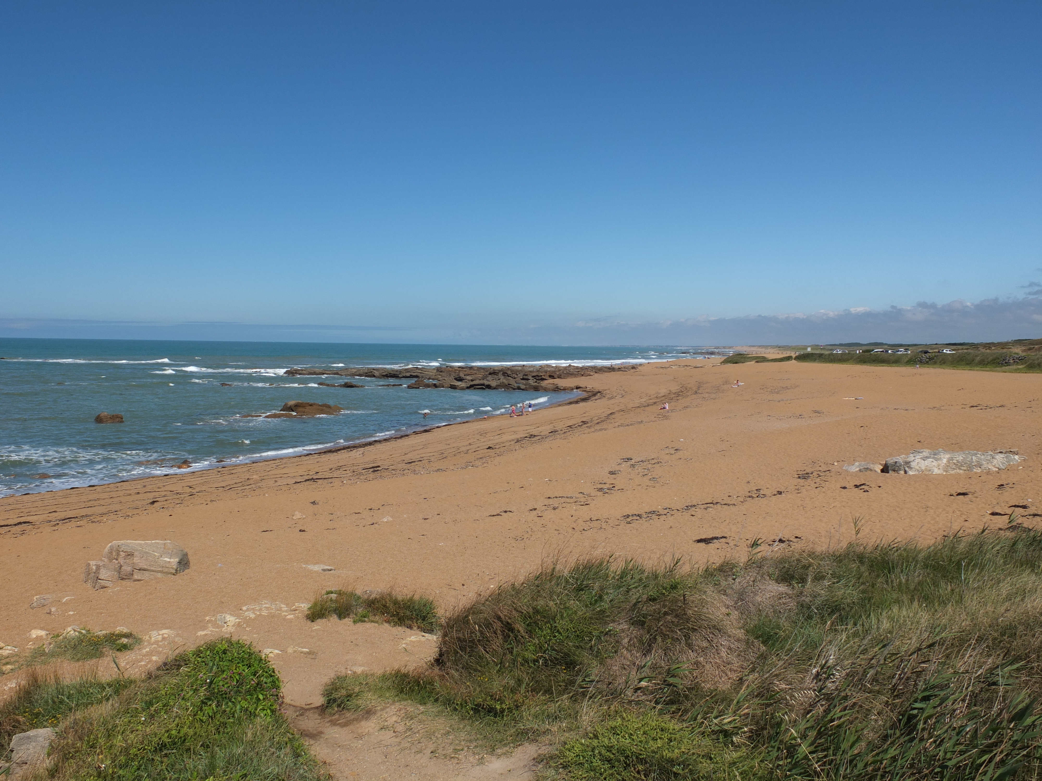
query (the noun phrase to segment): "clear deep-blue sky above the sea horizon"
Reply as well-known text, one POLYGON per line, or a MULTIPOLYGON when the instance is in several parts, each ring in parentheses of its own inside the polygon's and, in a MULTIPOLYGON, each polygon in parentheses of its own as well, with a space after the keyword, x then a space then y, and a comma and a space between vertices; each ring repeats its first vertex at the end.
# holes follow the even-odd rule
POLYGON ((1040 33, 1037 2, 4 3, 0 335, 1038 336, 1040 33))

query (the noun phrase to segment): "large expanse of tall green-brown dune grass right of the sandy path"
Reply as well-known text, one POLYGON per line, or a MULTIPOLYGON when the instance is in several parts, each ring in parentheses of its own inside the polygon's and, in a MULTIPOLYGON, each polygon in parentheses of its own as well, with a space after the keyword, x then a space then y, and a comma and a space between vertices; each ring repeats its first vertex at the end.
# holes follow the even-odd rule
POLYGON ((442 624, 429 669, 326 706, 429 703, 556 749, 548 778, 1042 774, 1042 534, 553 564, 442 624))

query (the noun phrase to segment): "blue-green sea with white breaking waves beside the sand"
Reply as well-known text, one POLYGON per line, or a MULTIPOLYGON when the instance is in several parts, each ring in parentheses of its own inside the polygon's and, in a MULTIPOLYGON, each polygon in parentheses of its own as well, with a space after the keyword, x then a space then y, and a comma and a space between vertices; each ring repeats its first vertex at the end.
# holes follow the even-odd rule
POLYGON ((283 377, 291 367, 606 366, 698 355, 698 348, 0 338, 0 496, 184 472, 175 465, 184 459, 201 470, 277 458, 575 396, 379 387, 400 380, 374 379, 351 379, 364 388, 320 387, 322 377, 283 377), (345 411, 242 417, 292 400, 345 411), (126 422, 99 425, 98 412, 126 422))

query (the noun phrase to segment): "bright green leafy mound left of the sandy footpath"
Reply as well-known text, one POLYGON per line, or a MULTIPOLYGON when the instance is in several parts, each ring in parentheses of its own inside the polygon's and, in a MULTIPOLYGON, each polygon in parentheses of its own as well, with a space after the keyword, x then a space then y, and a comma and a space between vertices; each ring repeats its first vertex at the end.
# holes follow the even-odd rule
POLYGON ((279 710, 278 675, 246 643, 214 640, 145 679, 106 685, 92 695, 100 704, 61 713, 49 778, 322 777, 279 710))

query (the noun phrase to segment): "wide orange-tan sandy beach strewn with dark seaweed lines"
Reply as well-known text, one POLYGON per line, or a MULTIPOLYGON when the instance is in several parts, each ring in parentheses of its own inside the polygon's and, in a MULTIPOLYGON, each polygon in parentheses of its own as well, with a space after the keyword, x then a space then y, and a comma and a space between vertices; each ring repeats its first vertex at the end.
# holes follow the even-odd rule
POLYGON ((287 701, 309 706, 336 674, 435 649, 413 630, 306 622, 322 589, 417 591, 450 610, 553 557, 702 563, 744 558, 754 540, 767 552, 855 531, 928 540, 1004 526, 1011 511, 1042 519, 1034 375, 679 360, 584 384, 584 400, 519 419, 0 499, 0 640, 123 626, 146 638, 127 660, 146 670, 230 634, 270 649, 287 701), (962 475, 842 469, 918 448, 1016 448, 1026 460, 962 475), (116 539, 172 539, 191 569, 95 591, 83 564, 116 539), (51 603, 30 609, 40 595, 51 603))

